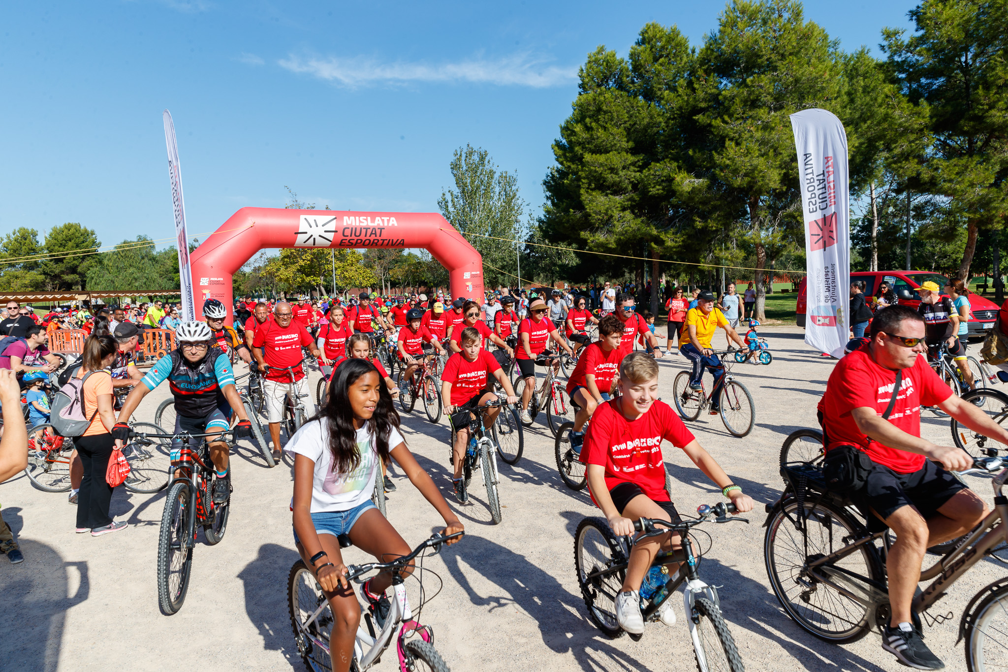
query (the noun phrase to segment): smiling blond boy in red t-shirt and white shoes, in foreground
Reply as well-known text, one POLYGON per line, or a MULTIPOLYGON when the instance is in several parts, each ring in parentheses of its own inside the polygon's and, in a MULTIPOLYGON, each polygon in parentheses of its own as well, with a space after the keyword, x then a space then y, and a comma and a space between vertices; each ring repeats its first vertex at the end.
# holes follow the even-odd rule
MULTIPOLYGON (((681 522, 665 491, 662 439, 685 452, 740 513, 752 510, 752 498, 732 483, 668 404, 657 401, 658 364, 653 358, 644 353, 627 355, 620 365, 618 385, 620 397, 600 405, 592 416, 582 451, 592 499, 614 534, 633 534, 633 523, 639 518, 681 522)), ((630 550, 626 576, 616 596, 616 621, 623 630, 634 635, 644 632, 641 581, 659 548, 669 550, 680 544, 680 537, 669 532, 643 539, 630 550)), ((675 569, 677 565, 668 566, 669 573, 675 569)), ((666 625, 675 623, 671 599, 662 602, 658 617, 666 625)))

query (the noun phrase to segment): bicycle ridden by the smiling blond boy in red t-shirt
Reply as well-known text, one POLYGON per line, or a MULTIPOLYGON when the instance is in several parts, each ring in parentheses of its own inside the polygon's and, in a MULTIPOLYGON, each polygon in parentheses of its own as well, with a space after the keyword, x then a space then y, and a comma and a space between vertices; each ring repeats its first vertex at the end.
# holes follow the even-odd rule
MULTIPOLYGON (((682 523, 641 518, 634 522, 634 529, 641 534, 634 539, 617 537, 604 518, 586 518, 575 532, 574 559, 578 572, 581 594, 588 608, 588 617, 607 637, 616 639, 623 636, 623 629, 616 621, 616 595, 626 577, 630 558, 630 547, 641 539, 677 532, 686 539, 689 531, 702 523, 710 521, 727 523, 733 520, 748 523, 745 518, 729 517, 735 513, 735 506, 724 502, 715 506, 701 505, 697 509, 699 518, 682 523)), ((687 627, 692 640, 697 668, 707 670, 731 670, 744 672, 745 666, 735 646, 735 640, 721 613, 721 600, 717 586, 708 585, 701 577, 700 557, 695 555, 692 544, 683 543, 682 548, 673 551, 659 551, 651 562, 652 567, 660 567, 667 575, 665 564, 682 564, 675 570, 654 594, 641 597, 641 613, 644 622, 658 620, 658 610, 672 593, 683 585, 682 609, 689 617, 687 627)), ((641 635, 631 635, 639 640, 641 635)))

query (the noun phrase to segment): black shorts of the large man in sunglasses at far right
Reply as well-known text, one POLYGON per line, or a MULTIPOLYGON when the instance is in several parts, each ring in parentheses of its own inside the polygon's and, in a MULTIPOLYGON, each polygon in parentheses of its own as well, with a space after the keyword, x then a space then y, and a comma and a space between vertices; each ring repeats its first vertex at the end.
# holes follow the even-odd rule
POLYGON ((955 474, 929 459, 911 474, 898 474, 876 463, 864 490, 851 499, 862 508, 871 507, 882 518, 888 518, 901 507, 912 506, 926 520, 961 490, 967 487, 955 474))

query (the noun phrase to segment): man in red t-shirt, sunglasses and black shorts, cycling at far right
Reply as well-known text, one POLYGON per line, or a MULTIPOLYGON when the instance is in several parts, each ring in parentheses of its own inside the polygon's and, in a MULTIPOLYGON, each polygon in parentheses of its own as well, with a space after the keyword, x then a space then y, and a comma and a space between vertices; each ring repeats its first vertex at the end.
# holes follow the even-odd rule
POLYGON ((907 627, 924 553, 973 529, 987 506, 951 473, 973 465, 969 453, 920 438, 920 407, 936 405, 1001 443, 1008 443, 1008 431, 952 394, 927 365, 925 333, 923 318, 912 308, 878 310, 868 345, 834 368, 822 408, 828 459, 833 450, 849 446, 844 449, 863 450, 873 462, 865 488, 850 497, 896 533, 886 560, 891 619, 882 648, 906 665, 934 669, 939 661, 907 627))

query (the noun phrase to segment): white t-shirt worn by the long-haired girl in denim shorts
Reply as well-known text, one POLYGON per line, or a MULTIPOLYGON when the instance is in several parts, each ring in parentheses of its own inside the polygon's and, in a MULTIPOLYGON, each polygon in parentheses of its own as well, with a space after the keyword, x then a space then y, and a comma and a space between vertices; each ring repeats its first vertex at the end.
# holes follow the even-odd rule
MULTIPOLYGON (((308 422, 290 437, 284 450, 304 455, 314 461, 311 481, 311 513, 349 511, 371 498, 375 473, 378 471, 378 450, 367 426, 357 430, 357 449, 361 463, 350 474, 334 474, 330 464, 333 451, 329 448, 329 419, 308 422)), ((403 442, 402 434, 392 428, 388 437, 389 450, 403 442)))

